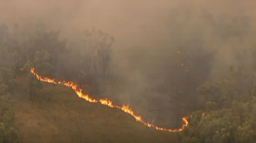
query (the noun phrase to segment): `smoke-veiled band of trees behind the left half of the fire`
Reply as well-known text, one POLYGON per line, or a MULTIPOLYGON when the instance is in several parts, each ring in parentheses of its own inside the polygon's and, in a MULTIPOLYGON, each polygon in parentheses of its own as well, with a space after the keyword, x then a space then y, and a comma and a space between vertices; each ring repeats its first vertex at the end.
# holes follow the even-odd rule
POLYGON ((79 82, 81 86, 109 80, 115 40, 101 30, 75 32, 69 41, 60 38, 60 31, 46 30, 42 23, 32 31, 20 29, 17 23, 14 27, 1 25, 0 31, 0 66, 17 73, 30 72, 34 67, 42 76, 79 82))

